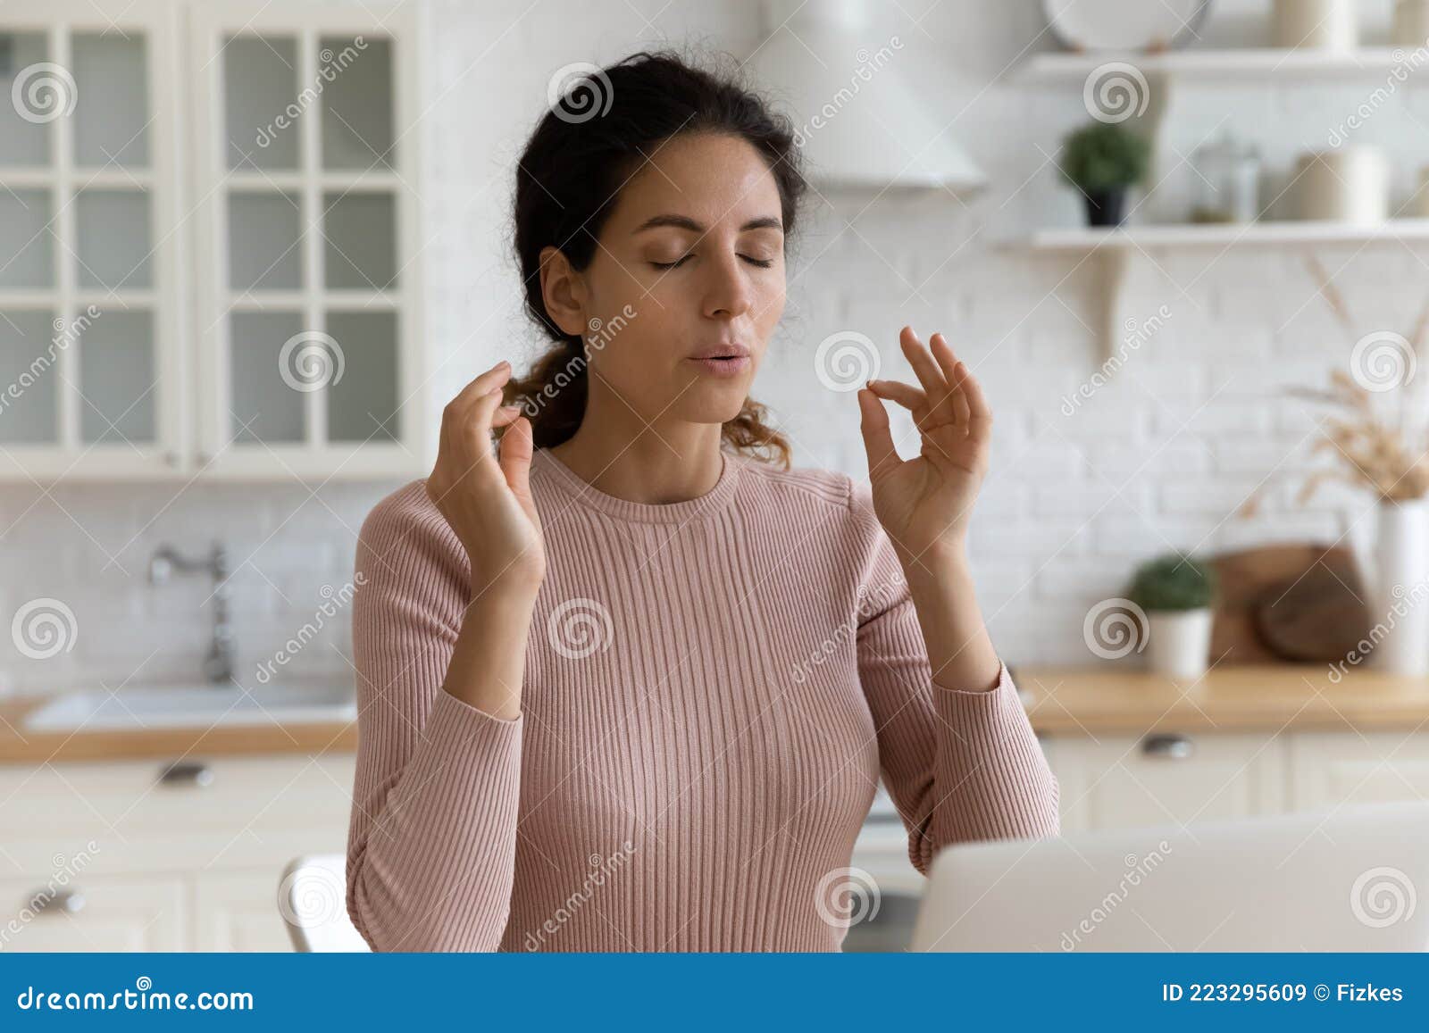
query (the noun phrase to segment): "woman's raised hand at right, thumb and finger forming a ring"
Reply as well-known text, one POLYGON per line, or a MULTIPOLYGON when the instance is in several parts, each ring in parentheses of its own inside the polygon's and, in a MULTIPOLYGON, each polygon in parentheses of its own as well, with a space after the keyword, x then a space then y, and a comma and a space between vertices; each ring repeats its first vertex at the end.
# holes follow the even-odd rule
POLYGON ((906 572, 912 563, 965 556, 967 523, 987 473, 992 411, 972 371, 940 333, 932 350, 910 327, 899 334, 920 387, 870 380, 859 390, 873 511, 906 572), (922 450, 899 459, 883 399, 913 413, 922 450))

